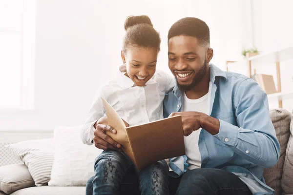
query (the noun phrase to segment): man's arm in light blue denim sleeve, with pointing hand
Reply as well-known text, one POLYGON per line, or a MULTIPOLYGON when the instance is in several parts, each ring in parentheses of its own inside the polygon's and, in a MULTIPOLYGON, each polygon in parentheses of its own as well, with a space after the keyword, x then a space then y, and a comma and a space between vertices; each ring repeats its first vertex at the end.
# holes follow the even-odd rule
POLYGON ((172 116, 182 115, 186 135, 203 128, 238 155, 261 167, 271 167, 279 158, 280 145, 270 118, 267 95, 257 83, 246 79, 236 92, 234 104, 239 127, 203 113, 172 116))

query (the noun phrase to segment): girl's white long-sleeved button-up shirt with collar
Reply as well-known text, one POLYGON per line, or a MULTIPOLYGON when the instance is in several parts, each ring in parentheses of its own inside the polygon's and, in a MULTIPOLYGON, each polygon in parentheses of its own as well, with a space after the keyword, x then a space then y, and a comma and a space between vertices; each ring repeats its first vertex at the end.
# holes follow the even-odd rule
POLYGON ((163 71, 156 71, 143 87, 119 73, 115 79, 100 87, 96 93, 87 119, 81 130, 85 144, 93 144, 94 124, 105 115, 104 98, 130 126, 163 118, 165 94, 174 87, 175 78, 163 71))

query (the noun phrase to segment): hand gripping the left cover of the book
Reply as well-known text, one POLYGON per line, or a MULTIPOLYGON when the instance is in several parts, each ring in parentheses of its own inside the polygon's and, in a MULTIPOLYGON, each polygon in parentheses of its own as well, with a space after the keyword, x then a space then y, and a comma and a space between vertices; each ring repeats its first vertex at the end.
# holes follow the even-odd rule
MULTIPOLYGON (((125 123, 126 127, 129 126, 129 124, 126 121, 124 121, 124 123, 125 123)), ((115 141, 114 139, 112 139, 112 137, 105 134, 106 131, 108 131, 112 134, 117 133, 117 131, 113 127, 111 127, 107 124, 108 124, 107 117, 100 118, 94 124, 94 127, 96 129, 94 132, 95 137, 93 138, 95 146, 99 149, 102 149, 102 150, 115 150, 118 152, 122 152, 121 144, 118 143, 117 141, 115 141)))

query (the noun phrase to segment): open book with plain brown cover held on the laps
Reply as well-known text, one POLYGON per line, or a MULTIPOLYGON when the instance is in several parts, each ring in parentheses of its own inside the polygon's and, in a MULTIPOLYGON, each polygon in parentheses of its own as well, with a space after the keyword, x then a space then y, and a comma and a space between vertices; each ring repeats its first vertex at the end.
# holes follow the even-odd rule
POLYGON ((117 134, 106 134, 122 145, 139 171, 158 160, 185 155, 181 116, 126 127, 112 106, 103 98, 102 101, 108 125, 117 130, 117 134))

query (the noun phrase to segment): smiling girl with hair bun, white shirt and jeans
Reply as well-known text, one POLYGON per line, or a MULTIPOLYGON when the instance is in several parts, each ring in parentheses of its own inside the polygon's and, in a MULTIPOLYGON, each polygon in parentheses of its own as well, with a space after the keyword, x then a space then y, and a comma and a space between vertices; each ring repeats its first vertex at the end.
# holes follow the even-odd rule
MULTIPOLYGON (((85 144, 105 149, 93 141, 97 120, 105 115, 103 97, 130 126, 163 118, 165 94, 174 87, 174 78, 156 72, 160 51, 160 35, 147 16, 131 16, 125 21, 126 35, 121 57, 126 70, 103 87, 95 97, 89 117, 82 129, 85 144)), ((152 152, 152 151, 149 151, 152 152)), ((121 152, 105 150, 95 161, 94 195, 118 195, 123 177, 133 169, 133 163, 121 152)), ((161 160, 137 173, 140 191, 144 195, 168 195, 168 166, 161 160)))

